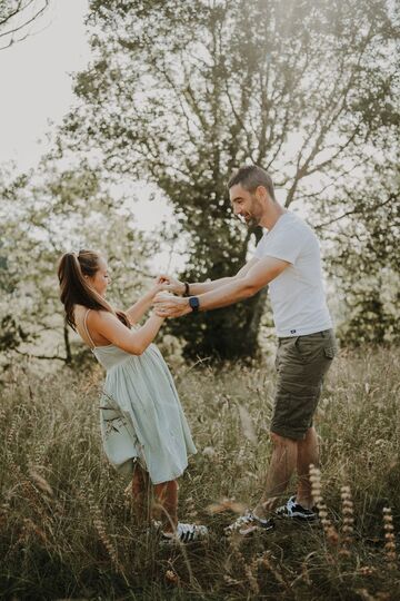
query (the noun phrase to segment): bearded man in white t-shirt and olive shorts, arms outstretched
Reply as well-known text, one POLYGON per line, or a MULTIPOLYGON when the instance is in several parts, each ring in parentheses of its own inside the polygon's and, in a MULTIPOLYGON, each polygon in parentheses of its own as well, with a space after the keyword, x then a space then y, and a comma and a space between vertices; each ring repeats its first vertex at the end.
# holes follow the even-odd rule
POLYGON ((236 276, 214 282, 188 284, 161 276, 169 292, 184 297, 160 293, 156 311, 168 317, 209 311, 243 300, 269 285, 278 335, 278 383, 271 420, 273 451, 262 497, 253 511, 230 526, 246 535, 272 528, 268 516, 294 470, 297 494, 277 513, 307 521, 316 518, 309 466, 318 465, 319 451, 312 417, 322 378, 336 354, 336 341, 313 230, 277 203, 272 180, 260 167, 241 167, 228 188, 234 214, 248 226, 267 229, 256 256, 236 276))

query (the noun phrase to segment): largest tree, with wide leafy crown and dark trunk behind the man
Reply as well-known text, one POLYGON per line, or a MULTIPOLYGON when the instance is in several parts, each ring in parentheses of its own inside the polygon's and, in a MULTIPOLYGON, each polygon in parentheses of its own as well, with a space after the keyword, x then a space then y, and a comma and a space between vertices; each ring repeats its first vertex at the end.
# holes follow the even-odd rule
MULTIPOLYGON (((232 275, 260 236, 233 219, 236 167, 267 168, 286 207, 320 203, 357 173, 377 131, 393 137, 399 27, 384 0, 90 6, 96 58, 77 79, 82 106, 64 144, 97 147, 111 173, 159 186, 189 234, 183 278, 232 275)), ((263 303, 264 292, 174 331, 192 356, 253 355, 263 303)))

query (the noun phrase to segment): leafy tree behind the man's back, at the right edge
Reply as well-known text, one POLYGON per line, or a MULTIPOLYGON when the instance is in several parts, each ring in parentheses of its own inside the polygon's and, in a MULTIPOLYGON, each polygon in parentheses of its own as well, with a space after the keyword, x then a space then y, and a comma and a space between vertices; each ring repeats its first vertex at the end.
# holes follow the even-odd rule
POLYGON ((366 171, 361 187, 342 190, 346 215, 338 220, 328 205, 319 225, 330 238, 327 264, 344 309, 338 333, 347 345, 399 344, 399 162, 387 156, 366 171))

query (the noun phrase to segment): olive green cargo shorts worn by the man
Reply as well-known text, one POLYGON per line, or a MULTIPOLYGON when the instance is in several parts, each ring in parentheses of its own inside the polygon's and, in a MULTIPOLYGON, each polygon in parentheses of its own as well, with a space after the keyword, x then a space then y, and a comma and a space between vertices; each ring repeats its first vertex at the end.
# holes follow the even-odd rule
POLYGON ((323 376, 338 352, 332 329, 306 336, 279 338, 277 393, 271 432, 302 440, 321 394, 323 376))

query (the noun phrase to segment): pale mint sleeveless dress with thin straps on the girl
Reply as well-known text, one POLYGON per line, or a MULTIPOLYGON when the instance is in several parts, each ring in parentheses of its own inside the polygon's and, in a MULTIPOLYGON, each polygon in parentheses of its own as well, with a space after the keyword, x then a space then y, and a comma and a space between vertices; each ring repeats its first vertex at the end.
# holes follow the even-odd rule
POLYGON ((180 476, 188 454, 196 453, 170 371, 154 344, 141 355, 131 355, 113 344, 96 346, 92 353, 106 368, 100 400, 100 428, 110 463, 131 474, 134 461, 149 472, 153 484, 180 476))

